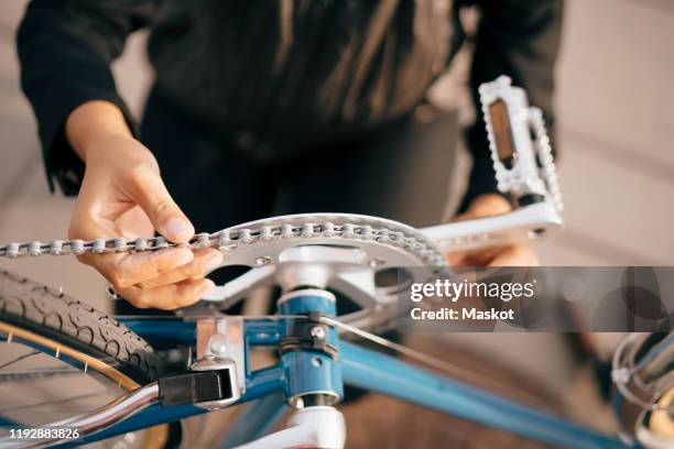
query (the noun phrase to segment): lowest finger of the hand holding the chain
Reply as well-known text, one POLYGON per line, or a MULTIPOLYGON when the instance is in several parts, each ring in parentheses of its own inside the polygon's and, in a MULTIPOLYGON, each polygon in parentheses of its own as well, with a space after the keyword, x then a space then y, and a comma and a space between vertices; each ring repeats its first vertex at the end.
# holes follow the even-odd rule
POLYGON ((173 310, 196 303, 214 288, 215 284, 210 280, 187 280, 154 288, 119 288, 117 293, 138 308, 173 310))

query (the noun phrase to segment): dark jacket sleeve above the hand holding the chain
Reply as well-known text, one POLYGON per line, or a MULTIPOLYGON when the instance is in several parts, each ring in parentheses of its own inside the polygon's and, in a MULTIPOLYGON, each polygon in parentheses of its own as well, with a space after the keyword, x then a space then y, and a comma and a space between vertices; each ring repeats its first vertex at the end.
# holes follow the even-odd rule
MULTIPOLYGON (((107 100, 131 116, 117 94, 110 63, 127 36, 146 25, 154 2, 141 0, 33 0, 17 35, 21 87, 35 117, 50 189, 54 179, 76 195, 84 164, 64 133, 79 105, 107 100)), ((133 127, 131 127, 133 129, 133 127)))

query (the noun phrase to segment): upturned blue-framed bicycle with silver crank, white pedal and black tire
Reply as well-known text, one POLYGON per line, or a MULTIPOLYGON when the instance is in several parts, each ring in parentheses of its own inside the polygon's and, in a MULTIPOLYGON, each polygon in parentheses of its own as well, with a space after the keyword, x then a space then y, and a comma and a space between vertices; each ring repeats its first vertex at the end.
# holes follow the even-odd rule
MULTIPOLYGON (((405 266, 442 267, 444 250, 540 239, 562 226, 562 198, 541 112, 526 105, 524 92, 507 77, 483 85, 480 95, 499 189, 518 202, 507 215, 416 230, 376 217, 312 213, 197 234, 187 243, 189 248, 219 248, 228 254, 226 265, 252 267, 204 298, 216 306, 207 315, 186 311, 116 319, 63 292, 9 273, 0 275, 0 339, 30 348, 28 357, 44 355, 66 365, 24 374, 87 373, 115 397, 98 408, 44 425, 77 430, 76 441, 50 434, 22 442, 6 436, 0 443, 72 446, 142 429, 151 434, 148 440, 165 442, 173 431, 168 423, 253 402, 238 417, 224 447, 341 448, 345 421, 334 406, 349 384, 555 446, 626 447, 616 436, 341 338, 351 332, 442 370, 442 361, 372 333, 395 319, 396 297, 404 288, 377 286, 376 273, 405 266), (276 315, 221 311, 262 285, 282 288, 276 315), (333 289, 360 309, 337 315, 333 289), (257 347, 275 349, 279 360, 254 369, 251 350, 257 347), (182 354, 178 360, 189 369, 167 369, 154 348, 182 354), (286 406, 294 409, 289 427, 269 434, 286 406)), ((0 248, 0 256, 152 251, 168 245, 161 237, 132 242, 10 243, 0 248)), ((626 359, 626 352, 621 354, 626 359)), ((628 376, 624 384, 634 379, 628 376)), ((1 424, 21 424, 10 415, 3 415, 1 424)))

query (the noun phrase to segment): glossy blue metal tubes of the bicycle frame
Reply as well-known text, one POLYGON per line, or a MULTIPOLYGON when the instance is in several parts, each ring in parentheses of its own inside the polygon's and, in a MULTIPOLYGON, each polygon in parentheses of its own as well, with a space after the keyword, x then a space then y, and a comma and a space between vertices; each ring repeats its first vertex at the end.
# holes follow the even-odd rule
MULTIPOLYGON (((333 308, 331 308, 333 307, 333 308)), ((280 305, 282 315, 334 314, 314 295, 296 295, 280 305)), ((127 319, 126 325, 152 342, 194 346, 195 322, 180 319, 127 319)), ((233 447, 269 432, 281 417, 289 398, 306 392, 343 396, 344 384, 382 393, 422 407, 565 448, 624 448, 619 439, 569 423, 552 414, 500 397, 469 384, 434 374, 393 357, 339 340, 331 329, 328 340, 338 348, 338 360, 308 351, 284 353, 278 364, 252 371, 251 347, 279 346, 292 328, 289 319, 246 319, 246 392, 237 404, 254 401, 238 418, 224 447, 233 447), (316 359, 320 359, 316 363, 316 359)), ((200 413, 193 405, 152 405, 132 418, 94 434, 86 442, 109 438, 200 413)))

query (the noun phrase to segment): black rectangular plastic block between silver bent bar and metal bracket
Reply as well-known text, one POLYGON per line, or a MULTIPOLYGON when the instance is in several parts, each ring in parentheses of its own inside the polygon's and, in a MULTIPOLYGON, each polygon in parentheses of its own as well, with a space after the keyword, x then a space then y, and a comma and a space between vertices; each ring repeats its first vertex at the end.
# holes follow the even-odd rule
POLYGON ((161 377, 159 388, 162 405, 198 404, 230 399, 233 396, 229 370, 196 371, 161 377))

